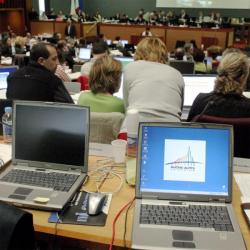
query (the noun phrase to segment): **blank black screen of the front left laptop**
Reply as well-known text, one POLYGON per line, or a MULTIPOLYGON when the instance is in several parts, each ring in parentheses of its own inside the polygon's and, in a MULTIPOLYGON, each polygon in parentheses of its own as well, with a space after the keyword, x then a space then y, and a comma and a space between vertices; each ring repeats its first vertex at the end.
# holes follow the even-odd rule
POLYGON ((14 102, 13 159, 41 166, 87 166, 89 109, 14 102))

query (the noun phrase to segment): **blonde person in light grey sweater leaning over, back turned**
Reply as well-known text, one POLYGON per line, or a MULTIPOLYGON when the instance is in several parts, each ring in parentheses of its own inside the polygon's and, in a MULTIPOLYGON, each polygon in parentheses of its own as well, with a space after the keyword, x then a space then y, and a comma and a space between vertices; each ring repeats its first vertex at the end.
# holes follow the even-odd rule
POLYGON ((179 71, 166 64, 164 42, 157 37, 144 38, 134 59, 124 69, 126 108, 138 110, 140 121, 180 121, 184 81, 179 71))

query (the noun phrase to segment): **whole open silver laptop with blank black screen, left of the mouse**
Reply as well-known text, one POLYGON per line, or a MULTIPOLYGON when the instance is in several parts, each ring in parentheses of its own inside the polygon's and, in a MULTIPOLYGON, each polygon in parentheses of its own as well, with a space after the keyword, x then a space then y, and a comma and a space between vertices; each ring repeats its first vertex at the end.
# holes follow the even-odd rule
POLYGON ((15 101, 12 140, 12 164, 0 174, 0 200, 61 210, 86 177, 89 109, 15 101))

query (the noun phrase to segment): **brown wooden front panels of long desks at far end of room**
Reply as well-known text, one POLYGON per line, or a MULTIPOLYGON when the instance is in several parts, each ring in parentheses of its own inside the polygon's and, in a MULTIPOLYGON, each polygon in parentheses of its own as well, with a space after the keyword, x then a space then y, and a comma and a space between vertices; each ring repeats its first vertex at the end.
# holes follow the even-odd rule
MULTIPOLYGON (((64 37, 66 22, 31 21, 30 26, 33 35, 59 32, 64 37)), ((75 23, 75 26, 77 37, 97 36, 99 33, 111 40, 115 40, 117 36, 120 36, 121 39, 128 40, 130 43, 135 39, 139 39, 142 32, 145 31, 145 25, 75 23)), ((175 48, 176 41, 178 40, 184 40, 186 42, 195 40, 198 47, 200 47, 202 43, 215 41, 216 45, 225 49, 233 44, 234 39, 233 29, 152 26, 151 32, 166 43, 169 51, 175 48)))

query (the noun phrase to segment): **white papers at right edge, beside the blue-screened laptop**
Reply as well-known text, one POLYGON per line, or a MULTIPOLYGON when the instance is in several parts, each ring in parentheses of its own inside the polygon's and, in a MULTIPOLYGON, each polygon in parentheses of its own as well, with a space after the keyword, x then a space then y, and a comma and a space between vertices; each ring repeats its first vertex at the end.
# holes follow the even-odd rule
POLYGON ((250 174, 234 173, 234 178, 241 191, 241 207, 244 211, 247 223, 250 226, 250 174))

